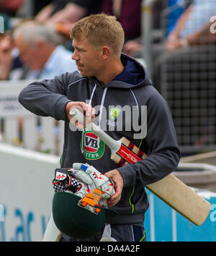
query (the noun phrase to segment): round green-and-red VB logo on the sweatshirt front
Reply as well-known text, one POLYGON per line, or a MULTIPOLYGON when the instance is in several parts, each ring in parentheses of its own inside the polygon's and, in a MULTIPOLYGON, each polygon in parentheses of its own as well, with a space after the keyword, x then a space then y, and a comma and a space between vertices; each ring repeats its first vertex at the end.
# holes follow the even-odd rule
POLYGON ((94 133, 85 128, 81 139, 81 150, 86 159, 96 160, 104 155, 105 144, 94 133))

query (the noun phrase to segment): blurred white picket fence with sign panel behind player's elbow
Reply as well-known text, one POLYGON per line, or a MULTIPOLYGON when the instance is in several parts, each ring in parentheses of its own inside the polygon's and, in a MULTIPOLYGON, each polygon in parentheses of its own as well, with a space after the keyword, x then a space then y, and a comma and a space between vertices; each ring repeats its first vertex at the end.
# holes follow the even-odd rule
POLYGON ((60 155, 64 122, 36 116, 18 101, 19 92, 30 82, 0 82, 0 140, 30 150, 60 155))

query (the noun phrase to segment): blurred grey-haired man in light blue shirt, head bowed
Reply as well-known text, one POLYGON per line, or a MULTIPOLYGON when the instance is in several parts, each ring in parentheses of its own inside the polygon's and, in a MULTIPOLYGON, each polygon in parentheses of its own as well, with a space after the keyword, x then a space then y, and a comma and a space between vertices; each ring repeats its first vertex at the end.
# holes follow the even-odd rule
POLYGON ((10 79, 48 79, 77 70, 72 52, 60 45, 59 35, 51 27, 23 22, 14 29, 12 39, 24 67, 14 69, 10 79))

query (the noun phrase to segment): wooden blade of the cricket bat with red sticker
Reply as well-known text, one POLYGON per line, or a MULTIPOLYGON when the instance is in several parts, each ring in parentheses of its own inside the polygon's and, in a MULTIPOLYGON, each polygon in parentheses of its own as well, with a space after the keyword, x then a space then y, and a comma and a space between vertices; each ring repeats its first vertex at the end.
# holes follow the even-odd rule
MULTIPOLYGON (((140 148, 132 144, 127 138, 122 137, 121 142, 120 150, 111 156, 111 159, 118 165, 135 163, 147 157, 140 148)), ((158 182, 148 184, 146 187, 197 226, 205 221, 210 212, 210 202, 204 200, 172 174, 158 182)))

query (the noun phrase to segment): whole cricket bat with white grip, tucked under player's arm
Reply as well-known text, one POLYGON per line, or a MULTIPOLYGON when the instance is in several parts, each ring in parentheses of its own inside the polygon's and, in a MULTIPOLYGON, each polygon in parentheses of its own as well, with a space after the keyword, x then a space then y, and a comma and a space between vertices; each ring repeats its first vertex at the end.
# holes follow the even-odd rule
MULTIPOLYGON (((135 163, 147 157, 127 138, 122 137, 121 140, 114 140, 93 122, 85 123, 84 115, 77 108, 71 108, 70 114, 73 117, 73 121, 85 124, 87 129, 104 141, 112 152, 112 161, 119 166, 135 163)), ((146 187, 197 226, 202 225, 210 213, 210 202, 204 200, 203 197, 199 196, 173 174, 168 174, 158 182, 148 184, 146 187)))

